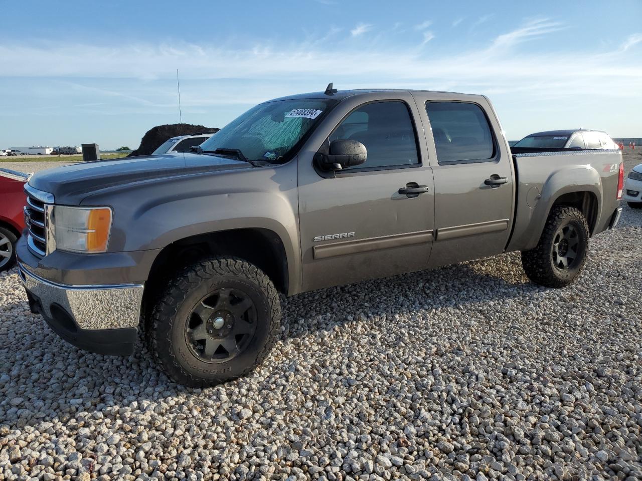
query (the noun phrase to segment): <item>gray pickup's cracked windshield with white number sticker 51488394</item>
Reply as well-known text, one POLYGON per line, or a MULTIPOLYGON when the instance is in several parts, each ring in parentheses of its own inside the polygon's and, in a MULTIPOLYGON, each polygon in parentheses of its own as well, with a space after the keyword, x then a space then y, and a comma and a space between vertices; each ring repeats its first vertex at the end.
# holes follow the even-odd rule
POLYGON ((336 101, 292 99, 250 108, 201 144, 203 151, 238 149, 247 160, 282 163, 336 101))

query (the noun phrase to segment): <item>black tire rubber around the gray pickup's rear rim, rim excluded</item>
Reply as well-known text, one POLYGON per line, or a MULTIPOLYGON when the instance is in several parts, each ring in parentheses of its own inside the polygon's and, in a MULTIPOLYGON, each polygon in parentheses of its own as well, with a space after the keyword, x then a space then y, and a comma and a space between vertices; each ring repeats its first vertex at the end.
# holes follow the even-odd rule
POLYGON ((566 287, 580 275, 589 247, 589 224, 575 207, 560 205, 553 207, 546 219, 546 225, 534 249, 522 252, 522 266, 532 282, 546 287, 566 287), (562 269, 554 262, 553 249, 557 235, 570 226, 577 232, 576 257, 568 268, 562 269))

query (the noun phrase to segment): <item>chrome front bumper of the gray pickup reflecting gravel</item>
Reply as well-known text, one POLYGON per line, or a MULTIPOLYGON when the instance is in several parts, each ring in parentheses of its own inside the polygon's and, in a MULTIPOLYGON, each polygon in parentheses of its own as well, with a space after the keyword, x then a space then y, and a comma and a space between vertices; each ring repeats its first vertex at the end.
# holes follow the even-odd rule
POLYGON ((41 314, 48 320, 60 317, 62 310, 80 330, 138 326, 143 300, 142 284, 62 285, 36 276, 22 264, 19 264, 19 274, 22 284, 31 294, 30 304, 35 298, 41 314))

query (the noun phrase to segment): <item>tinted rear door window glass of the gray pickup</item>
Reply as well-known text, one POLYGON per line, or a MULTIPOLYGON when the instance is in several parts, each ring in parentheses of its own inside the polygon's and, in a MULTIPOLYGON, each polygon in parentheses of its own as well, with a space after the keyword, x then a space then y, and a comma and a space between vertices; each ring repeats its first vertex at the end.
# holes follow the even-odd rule
POLYGON ((438 164, 487 162, 495 142, 482 108, 467 102, 426 102, 438 164))

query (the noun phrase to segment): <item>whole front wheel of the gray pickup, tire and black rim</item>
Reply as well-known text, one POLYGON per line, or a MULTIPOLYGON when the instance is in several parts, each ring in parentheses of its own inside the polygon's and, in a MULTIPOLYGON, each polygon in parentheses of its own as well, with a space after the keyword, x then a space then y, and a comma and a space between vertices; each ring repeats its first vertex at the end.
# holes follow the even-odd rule
POLYGON ((180 384, 206 387, 246 375, 265 359, 281 306, 263 271, 213 257, 170 280, 151 321, 148 341, 162 369, 180 384))

